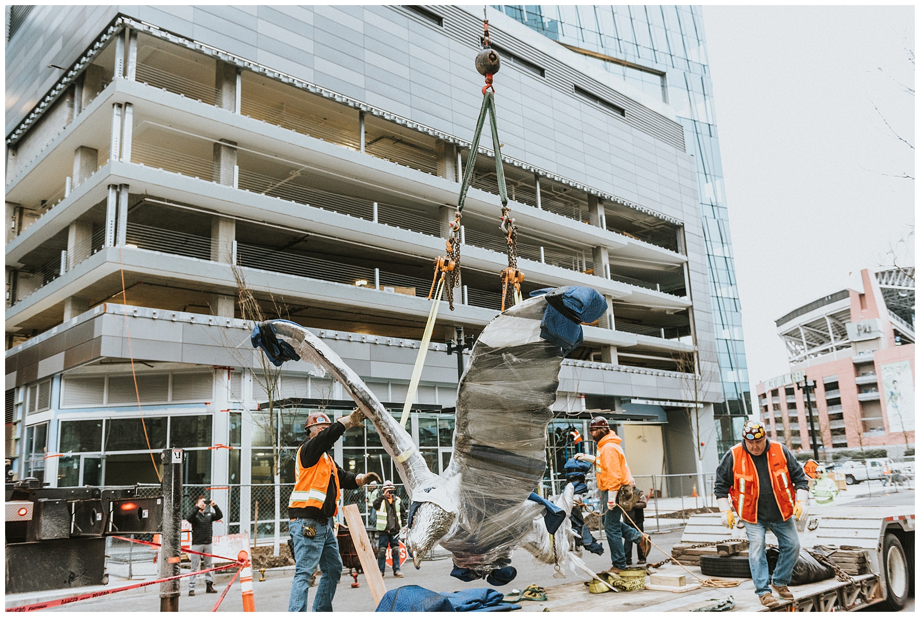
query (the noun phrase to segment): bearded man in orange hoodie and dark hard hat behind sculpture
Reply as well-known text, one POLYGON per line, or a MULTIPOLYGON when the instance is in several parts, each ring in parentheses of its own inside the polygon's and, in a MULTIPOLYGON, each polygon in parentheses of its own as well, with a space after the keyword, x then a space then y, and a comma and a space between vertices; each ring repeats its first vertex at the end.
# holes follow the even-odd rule
POLYGON ((610 546, 610 559, 613 562, 607 572, 619 574, 627 567, 626 552, 623 549, 623 538, 637 543, 643 555, 648 555, 651 549, 649 536, 635 527, 630 527, 622 521, 623 508, 616 503, 616 496, 623 486, 635 486, 632 474, 629 473, 626 454, 620 448, 621 440, 614 430, 607 424, 607 418, 598 416, 592 419, 588 427, 591 439, 597 442, 597 456, 590 454, 576 454, 573 458, 578 461, 590 461, 597 470, 597 488, 600 491, 601 507, 604 520, 604 535, 610 546), (604 510, 604 505, 606 509, 604 510))

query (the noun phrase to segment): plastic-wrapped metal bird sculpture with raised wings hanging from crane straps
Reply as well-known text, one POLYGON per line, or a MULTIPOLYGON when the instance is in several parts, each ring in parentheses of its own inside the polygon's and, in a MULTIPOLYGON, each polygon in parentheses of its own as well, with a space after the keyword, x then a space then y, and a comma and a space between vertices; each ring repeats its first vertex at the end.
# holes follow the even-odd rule
POLYGON ((562 360, 581 345, 581 324, 606 309, 591 288, 561 287, 534 291, 496 316, 479 335, 460 380, 454 454, 440 475, 362 379, 304 326, 263 322, 252 343, 276 366, 305 360, 322 367, 374 422, 412 502, 406 544, 416 568, 440 543, 454 556, 455 577, 501 585, 516 573, 511 555, 520 546, 556 566, 556 576, 572 570, 596 577, 575 553, 572 487, 555 504, 533 491, 546 469, 546 425, 562 360))

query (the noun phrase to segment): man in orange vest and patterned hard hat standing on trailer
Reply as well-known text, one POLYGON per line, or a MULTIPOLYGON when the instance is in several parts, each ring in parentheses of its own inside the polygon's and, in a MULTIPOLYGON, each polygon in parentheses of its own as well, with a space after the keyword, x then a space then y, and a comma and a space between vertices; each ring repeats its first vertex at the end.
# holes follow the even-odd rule
POLYGON ((799 560, 796 520, 808 517, 808 476, 786 446, 767 439, 763 423, 747 421, 742 437, 742 442, 722 457, 713 492, 723 525, 729 529, 735 526, 732 508, 744 521, 754 591, 761 604, 772 608, 779 600, 770 592, 766 531, 773 531, 779 542, 773 588, 781 599, 792 600, 788 584, 799 560))

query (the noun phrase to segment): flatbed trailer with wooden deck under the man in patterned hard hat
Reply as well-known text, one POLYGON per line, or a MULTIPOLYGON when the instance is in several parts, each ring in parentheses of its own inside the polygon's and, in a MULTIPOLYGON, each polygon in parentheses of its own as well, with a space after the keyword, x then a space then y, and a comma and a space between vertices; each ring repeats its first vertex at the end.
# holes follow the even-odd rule
MULTIPOLYGON (((654 538, 654 536, 653 536, 654 538)), ((697 514, 688 520, 681 543, 697 544, 717 541, 743 540, 743 529, 728 530, 721 525, 719 514, 697 514)), ((776 544, 776 537, 767 533, 766 543, 776 544)), ((693 611, 716 604, 731 596, 732 611, 858 611, 873 604, 885 603, 892 611, 900 610, 904 601, 914 595, 914 507, 845 507, 813 508, 806 531, 799 533, 803 548, 814 546, 847 546, 864 549, 868 573, 853 575, 852 580, 827 580, 789 587, 794 600, 780 600, 768 609, 754 594, 753 580, 738 580, 733 588, 696 588, 684 593, 641 589, 592 594, 582 581, 565 583, 546 589, 546 602, 522 602, 523 611, 693 611)), ((656 559, 652 549, 652 560, 656 559)), ((699 566, 686 566, 699 578, 709 578, 699 566)), ((684 570, 673 564, 653 572, 680 575, 684 570)), ((648 580, 648 578, 647 578, 648 580)), ((687 585, 696 578, 686 576, 687 585)))

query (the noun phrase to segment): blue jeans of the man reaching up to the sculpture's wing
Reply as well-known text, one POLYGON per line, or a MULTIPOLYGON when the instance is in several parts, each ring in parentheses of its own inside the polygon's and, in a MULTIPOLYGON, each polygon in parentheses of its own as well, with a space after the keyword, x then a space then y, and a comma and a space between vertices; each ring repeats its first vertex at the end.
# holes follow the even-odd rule
POLYGON ((306 600, 310 591, 309 579, 316 566, 323 571, 313 600, 313 611, 332 611, 332 599, 336 595, 336 586, 342 574, 342 558, 339 554, 339 541, 336 540, 334 520, 325 523, 312 519, 294 519, 288 523, 288 530, 293 540, 293 582, 291 600, 288 600, 288 612, 306 612, 306 600), (307 538, 305 527, 316 529, 316 535, 307 538))

